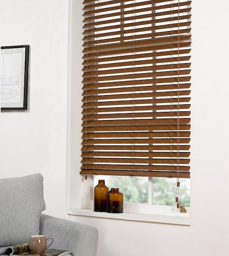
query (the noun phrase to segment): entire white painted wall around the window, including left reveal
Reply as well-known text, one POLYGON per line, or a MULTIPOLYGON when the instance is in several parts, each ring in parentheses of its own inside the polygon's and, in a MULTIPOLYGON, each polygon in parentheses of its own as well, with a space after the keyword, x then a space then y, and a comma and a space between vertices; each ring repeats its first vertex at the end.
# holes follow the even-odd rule
MULTIPOLYGON (((30 109, 0 114, 0 177, 42 173, 46 212, 60 217, 66 162, 68 207, 82 207, 81 2, 72 1, 68 51, 67 0, 0 0, 0 45, 31 45, 30 109)), ((228 255, 227 10, 226 0, 192 2, 191 226, 71 217, 97 227, 98 256, 228 255)))

